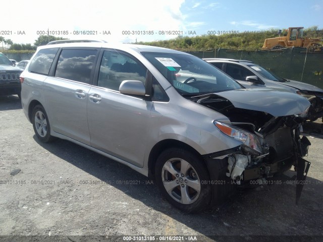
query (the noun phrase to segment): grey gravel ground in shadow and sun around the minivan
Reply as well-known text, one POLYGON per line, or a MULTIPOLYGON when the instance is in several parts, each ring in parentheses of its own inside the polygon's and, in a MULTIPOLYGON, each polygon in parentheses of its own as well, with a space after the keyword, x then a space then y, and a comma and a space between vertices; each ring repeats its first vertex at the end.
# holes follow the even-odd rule
MULTIPOLYGON (((320 124, 305 129, 312 133, 320 124)), ((305 159, 311 167, 297 206, 290 179, 296 173, 288 171, 276 178, 281 184, 184 214, 152 180, 125 165, 65 140, 38 142, 17 96, 0 97, 0 134, 0 235, 21 236, 0 240, 130 241, 116 235, 150 235, 151 241, 323 241, 320 135, 307 135, 312 145, 305 159), (20 172, 12 175, 15 169, 20 172), (165 237, 172 235, 184 237, 165 237)))

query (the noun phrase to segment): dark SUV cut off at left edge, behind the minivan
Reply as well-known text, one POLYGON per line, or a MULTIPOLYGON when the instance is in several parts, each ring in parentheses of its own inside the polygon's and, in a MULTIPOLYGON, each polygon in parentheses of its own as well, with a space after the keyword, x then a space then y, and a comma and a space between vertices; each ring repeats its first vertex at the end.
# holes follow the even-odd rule
POLYGON ((15 95, 20 98, 22 69, 15 67, 6 55, 0 53, 0 95, 15 95))

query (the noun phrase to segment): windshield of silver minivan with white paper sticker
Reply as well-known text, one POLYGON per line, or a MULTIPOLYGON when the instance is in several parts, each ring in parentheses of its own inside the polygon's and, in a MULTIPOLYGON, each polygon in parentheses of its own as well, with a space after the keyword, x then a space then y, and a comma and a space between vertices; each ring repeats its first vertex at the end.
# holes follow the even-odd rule
POLYGON ((142 52, 180 94, 207 94, 242 87, 218 68, 188 54, 142 52))

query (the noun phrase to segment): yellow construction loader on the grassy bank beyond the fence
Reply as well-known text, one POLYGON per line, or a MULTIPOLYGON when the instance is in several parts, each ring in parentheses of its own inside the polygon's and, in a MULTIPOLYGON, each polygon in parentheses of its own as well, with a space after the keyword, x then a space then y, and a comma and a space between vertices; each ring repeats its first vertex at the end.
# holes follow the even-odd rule
MULTIPOLYGON (((303 47, 310 48, 310 51, 320 51, 322 45, 319 44, 318 38, 303 38, 304 27, 290 27, 288 28, 287 36, 265 39, 262 50, 303 47)), ((280 32, 279 32, 280 34, 280 32)))

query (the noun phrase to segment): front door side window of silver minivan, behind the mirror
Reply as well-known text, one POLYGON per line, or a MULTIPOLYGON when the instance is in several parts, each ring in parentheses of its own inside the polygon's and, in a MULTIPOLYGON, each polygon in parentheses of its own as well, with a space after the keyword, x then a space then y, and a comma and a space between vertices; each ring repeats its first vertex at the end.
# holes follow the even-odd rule
POLYGON ((146 82, 147 69, 136 59, 114 51, 104 51, 97 85, 119 91, 124 80, 146 82))

